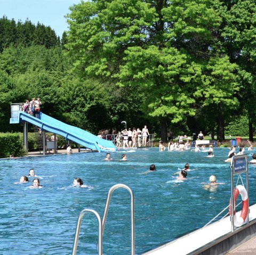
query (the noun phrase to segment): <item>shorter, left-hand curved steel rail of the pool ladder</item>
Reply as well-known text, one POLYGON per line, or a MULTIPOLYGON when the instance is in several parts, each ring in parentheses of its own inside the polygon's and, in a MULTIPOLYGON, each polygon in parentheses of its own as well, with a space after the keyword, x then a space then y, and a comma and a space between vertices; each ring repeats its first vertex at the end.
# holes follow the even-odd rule
POLYGON ((98 255, 102 255, 102 234, 103 234, 102 222, 101 222, 101 218, 99 216, 99 213, 97 211, 92 210, 92 209, 84 209, 83 211, 81 211, 79 213, 79 216, 78 216, 78 219, 77 219, 77 226, 76 226, 76 233, 75 233, 72 255, 76 254, 82 219, 83 219, 85 213, 87 213, 87 212, 92 212, 98 219, 98 224, 99 224, 99 229, 98 229, 98 235, 99 235, 98 236, 98 255))

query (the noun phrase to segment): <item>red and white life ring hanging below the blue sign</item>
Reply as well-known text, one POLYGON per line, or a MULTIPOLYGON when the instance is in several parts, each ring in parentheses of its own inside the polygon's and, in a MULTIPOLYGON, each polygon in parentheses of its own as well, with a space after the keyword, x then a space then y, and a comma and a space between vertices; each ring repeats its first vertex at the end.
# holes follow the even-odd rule
MULTIPOLYGON (((246 217, 247 217, 247 212, 248 212, 248 208, 249 208, 249 203, 248 203, 248 195, 247 195, 247 191, 245 190, 245 187, 243 185, 238 185, 236 188, 235 188, 235 192, 234 192, 234 201, 235 201, 235 204, 234 204, 234 226, 235 227, 241 227, 245 220, 246 220, 246 217), (237 196, 241 194, 242 196, 242 212, 241 212, 241 215, 240 217, 237 217, 236 216, 236 199, 237 199, 237 196)), ((231 215, 231 198, 229 200, 229 215, 231 215)))

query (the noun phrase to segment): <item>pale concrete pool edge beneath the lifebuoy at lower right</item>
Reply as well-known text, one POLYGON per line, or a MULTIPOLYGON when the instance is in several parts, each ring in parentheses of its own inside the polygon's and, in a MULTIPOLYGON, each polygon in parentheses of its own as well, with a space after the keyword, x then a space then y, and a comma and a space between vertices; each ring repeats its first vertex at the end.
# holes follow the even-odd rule
POLYGON ((256 204, 250 206, 249 216, 249 224, 236 228, 233 233, 230 218, 226 217, 142 255, 226 254, 256 236, 256 204))

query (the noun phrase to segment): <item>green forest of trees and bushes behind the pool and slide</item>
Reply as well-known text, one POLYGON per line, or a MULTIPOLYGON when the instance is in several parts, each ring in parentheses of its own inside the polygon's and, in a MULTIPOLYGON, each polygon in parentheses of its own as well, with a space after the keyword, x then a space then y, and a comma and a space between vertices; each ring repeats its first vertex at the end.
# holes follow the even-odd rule
POLYGON ((247 136, 256 102, 256 3, 94 0, 70 7, 62 38, 43 24, 0 19, 0 131, 10 104, 98 134, 140 127, 174 135, 247 136))

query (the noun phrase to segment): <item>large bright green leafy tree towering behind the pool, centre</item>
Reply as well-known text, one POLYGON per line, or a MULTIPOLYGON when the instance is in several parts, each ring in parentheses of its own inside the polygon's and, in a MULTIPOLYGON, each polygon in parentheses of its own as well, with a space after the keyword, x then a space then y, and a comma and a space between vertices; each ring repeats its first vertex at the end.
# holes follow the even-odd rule
MULTIPOLYGON (((213 47, 221 22, 213 2, 82 2, 73 5, 67 15, 66 47, 82 76, 105 77, 121 87, 140 87, 144 108, 161 121, 165 141, 168 120, 186 122, 188 116, 195 115, 196 99, 205 98, 198 87, 202 83, 207 86, 205 77, 211 76, 207 65, 210 61, 218 64, 212 59, 222 57, 213 47)), ((219 85, 222 92, 222 83, 219 85)), ((215 110, 222 112, 221 104, 215 110)))

